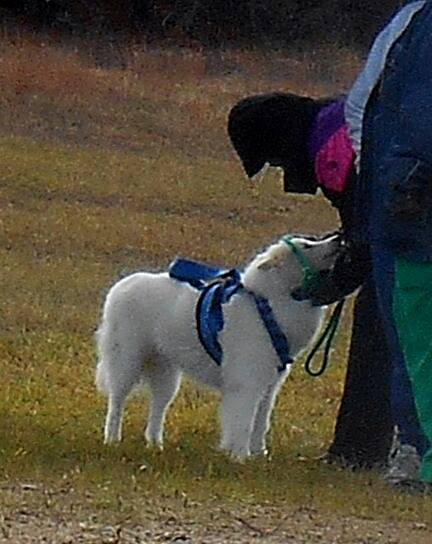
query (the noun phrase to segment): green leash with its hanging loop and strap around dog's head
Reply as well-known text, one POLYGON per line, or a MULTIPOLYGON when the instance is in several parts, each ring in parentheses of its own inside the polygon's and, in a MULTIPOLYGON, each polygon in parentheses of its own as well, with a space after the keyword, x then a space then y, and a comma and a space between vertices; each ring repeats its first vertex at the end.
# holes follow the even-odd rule
MULTIPOLYGON (((292 241, 290 236, 284 236, 282 240, 291 248, 292 252, 297 257, 297 260, 299 261, 301 267, 303 268, 302 288, 304 288, 305 290, 309 290, 311 287, 319 283, 320 281, 319 273, 312 266, 309 259, 303 253, 303 251, 292 241)), ((327 370, 327 367, 329 365, 331 345, 333 342, 333 338, 336 334, 337 328, 339 326, 344 304, 345 304, 345 299, 340 300, 336 304, 335 309, 333 310, 333 313, 330 317, 330 320, 326 328, 324 329, 324 332, 319 337, 317 343, 312 348, 312 350, 310 351, 309 355, 306 358, 305 370, 310 376, 313 376, 314 378, 321 376, 327 370), (320 349, 320 347, 322 346, 324 342, 326 342, 326 344, 324 348, 323 361, 319 368, 314 369, 312 367, 313 358, 315 357, 315 354, 317 353, 317 351, 320 349)))

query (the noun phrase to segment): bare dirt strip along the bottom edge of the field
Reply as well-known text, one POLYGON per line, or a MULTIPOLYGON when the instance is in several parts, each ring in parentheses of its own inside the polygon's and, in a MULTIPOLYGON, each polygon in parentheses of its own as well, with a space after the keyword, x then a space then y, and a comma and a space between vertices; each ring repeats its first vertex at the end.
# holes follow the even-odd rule
MULTIPOLYGON (((0 542, 246 544, 429 544, 432 526, 366 516, 336 517, 313 507, 228 505, 217 499, 141 499, 129 511, 98 508, 94 497, 42 484, 5 484, 0 542)), ((119 499, 120 500, 120 499, 119 499)), ((126 505, 127 506, 127 505, 126 505)), ((129 505, 132 506, 132 505, 129 505)), ((119 510, 125 505, 119 503, 119 510)), ((127 509, 126 509, 127 510, 127 509)))

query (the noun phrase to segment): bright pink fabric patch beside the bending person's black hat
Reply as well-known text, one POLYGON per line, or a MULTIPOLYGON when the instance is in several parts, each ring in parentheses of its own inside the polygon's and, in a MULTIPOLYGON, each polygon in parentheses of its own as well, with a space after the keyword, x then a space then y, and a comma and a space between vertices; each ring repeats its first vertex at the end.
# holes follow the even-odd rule
POLYGON ((321 147, 315 157, 315 174, 320 185, 342 193, 354 164, 354 150, 346 125, 321 147))

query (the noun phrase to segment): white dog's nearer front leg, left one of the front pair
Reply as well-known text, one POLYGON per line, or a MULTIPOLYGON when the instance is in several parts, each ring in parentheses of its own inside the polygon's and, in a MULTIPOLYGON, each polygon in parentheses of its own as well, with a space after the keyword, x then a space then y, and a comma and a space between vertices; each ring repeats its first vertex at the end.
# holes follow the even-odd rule
POLYGON ((224 391, 220 410, 220 449, 243 461, 250 455, 250 440, 257 410, 257 391, 245 388, 224 391))

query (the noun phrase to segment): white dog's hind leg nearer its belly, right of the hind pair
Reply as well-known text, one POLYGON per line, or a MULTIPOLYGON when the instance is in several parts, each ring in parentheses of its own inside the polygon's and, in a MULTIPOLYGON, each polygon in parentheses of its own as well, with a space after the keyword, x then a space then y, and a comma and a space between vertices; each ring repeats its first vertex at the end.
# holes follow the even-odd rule
POLYGON ((150 386, 151 402, 145 437, 149 446, 162 448, 165 417, 179 390, 181 372, 166 361, 161 361, 146 373, 146 381, 150 386))

